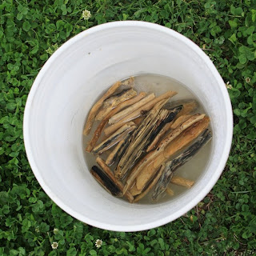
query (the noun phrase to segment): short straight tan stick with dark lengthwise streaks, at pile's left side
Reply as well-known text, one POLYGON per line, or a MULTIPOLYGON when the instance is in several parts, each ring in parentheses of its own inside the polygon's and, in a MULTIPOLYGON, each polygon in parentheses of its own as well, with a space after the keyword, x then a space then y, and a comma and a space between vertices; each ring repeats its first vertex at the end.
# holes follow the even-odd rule
POLYGON ((122 138, 125 138, 132 130, 136 128, 134 122, 127 122, 124 126, 119 128, 114 134, 109 138, 106 138, 98 146, 95 146, 91 151, 92 154, 102 154, 106 150, 109 150, 110 147, 114 146, 116 143, 120 142, 122 138))

